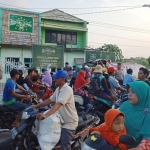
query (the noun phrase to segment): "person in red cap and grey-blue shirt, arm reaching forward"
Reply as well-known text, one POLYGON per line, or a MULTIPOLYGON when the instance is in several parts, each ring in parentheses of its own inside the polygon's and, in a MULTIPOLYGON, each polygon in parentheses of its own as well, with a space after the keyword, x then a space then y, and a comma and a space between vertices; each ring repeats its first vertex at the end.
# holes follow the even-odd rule
POLYGON ((126 92, 127 90, 122 88, 118 82, 117 79, 114 78, 115 76, 115 69, 113 67, 109 67, 108 68, 108 74, 109 74, 109 83, 110 83, 110 87, 111 87, 111 91, 112 93, 117 96, 116 90, 120 90, 122 92, 126 92))

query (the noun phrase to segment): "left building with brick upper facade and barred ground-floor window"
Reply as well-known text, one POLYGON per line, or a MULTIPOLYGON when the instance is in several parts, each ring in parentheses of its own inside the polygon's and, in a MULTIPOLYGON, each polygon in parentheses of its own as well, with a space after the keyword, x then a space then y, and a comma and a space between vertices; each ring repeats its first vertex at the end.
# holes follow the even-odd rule
POLYGON ((40 44, 40 14, 25 10, 0 7, 0 61, 3 79, 16 67, 31 67, 32 45, 40 44))

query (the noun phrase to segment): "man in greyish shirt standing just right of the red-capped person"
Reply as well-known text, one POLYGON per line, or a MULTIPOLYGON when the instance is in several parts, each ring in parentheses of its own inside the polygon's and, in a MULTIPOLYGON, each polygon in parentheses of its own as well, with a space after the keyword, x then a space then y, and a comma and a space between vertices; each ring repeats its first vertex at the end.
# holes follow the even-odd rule
POLYGON ((115 72, 115 78, 119 81, 120 85, 123 85, 123 76, 124 76, 124 73, 123 73, 123 70, 121 69, 121 67, 122 67, 122 64, 118 63, 117 70, 115 72))

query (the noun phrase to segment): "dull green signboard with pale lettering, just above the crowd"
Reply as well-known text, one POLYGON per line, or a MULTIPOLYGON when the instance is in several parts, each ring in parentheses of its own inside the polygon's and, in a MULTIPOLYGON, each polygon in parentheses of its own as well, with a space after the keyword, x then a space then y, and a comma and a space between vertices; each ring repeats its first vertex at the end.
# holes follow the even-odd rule
POLYGON ((64 66, 63 46, 33 45, 32 47, 33 67, 45 68, 48 64, 60 68, 64 66))

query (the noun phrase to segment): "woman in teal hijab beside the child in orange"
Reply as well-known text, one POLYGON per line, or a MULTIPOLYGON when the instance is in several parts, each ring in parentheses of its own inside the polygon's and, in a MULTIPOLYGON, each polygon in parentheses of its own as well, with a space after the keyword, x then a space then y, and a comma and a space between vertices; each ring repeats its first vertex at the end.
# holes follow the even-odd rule
POLYGON ((150 88, 142 81, 130 82, 128 101, 120 107, 125 114, 127 134, 136 139, 129 150, 150 150, 150 88))

